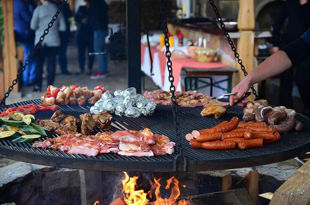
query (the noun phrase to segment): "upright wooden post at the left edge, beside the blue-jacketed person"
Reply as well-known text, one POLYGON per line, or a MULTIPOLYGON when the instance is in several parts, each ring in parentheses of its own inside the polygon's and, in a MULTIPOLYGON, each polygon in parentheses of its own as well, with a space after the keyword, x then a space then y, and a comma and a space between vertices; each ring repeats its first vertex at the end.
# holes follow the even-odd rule
MULTIPOLYGON (((4 89, 8 89, 17 75, 17 59, 13 25, 13 1, 2 0, 4 45, 3 45, 3 74, 4 89)), ((12 92, 18 91, 18 84, 12 92)))

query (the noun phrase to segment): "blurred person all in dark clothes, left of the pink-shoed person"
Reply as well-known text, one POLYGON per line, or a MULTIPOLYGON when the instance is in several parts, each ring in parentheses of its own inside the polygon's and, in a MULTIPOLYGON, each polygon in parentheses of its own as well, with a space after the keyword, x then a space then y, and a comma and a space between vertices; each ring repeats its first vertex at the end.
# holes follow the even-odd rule
MULTIPOLYGON (((79 6, 78 11, 74 16, 74 20, 78 23, 78 29, 75 32, 74 42, 78 45, 78 62, 80 66, 76 74, 81 74, 85 70, 85 50, 87 49, 87 53, 94 52, 94 32, 91 29, 88 20, 91 2, 89 0, 85 0, 85 2, 86 5, 79 6)), ((95 56, 86 56, 88 56, 88 68, 86 73, 91 74, 95 56)))

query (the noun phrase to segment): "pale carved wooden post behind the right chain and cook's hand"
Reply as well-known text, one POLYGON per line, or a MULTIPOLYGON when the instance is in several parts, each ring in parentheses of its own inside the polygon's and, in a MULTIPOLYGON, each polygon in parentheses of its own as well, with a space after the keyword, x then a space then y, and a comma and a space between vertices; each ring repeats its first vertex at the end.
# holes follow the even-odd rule
MULTIPOLYGON (((238 13, 240 38, 237 39, 237 52, 240 54, 240 58, 242 59, 243 65, 248 73, 254 68, 254 28, 254 0, 240 0, 238 13)), ((238 62, 236 62, 236 66, 237 69, 239 69, 238 73, 240 81, 244 78, 244 74, 240 69, 238 62)))

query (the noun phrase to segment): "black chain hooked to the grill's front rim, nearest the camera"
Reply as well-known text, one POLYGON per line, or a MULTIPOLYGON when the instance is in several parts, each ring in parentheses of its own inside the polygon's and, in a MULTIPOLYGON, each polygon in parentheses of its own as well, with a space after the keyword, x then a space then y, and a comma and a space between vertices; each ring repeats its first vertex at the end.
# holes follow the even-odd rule
POLYGON ((163 0, 160 0, 160 11, 162 13, 162 26, 163 26, 163 33, 164 33, 164 42, 166 47, 166 57, 167 57, 167 67, 169 71, 169 82, 170 82, 170 92, 171 92, 171 102, 172 102, 172 112, 174 116, 174 123, 175 123, 175 137, 178 139, 178 143, 176 145, 178 155, 175 156, 175 168, 174 171, 177 171, 177 160, 179 158, 183 158, 184 160, 184 171, 186 171, 186 158, 182 155, 182 146, 181 146, 181 137, 180 137, 180 126, 179 126, 179 117, 178 117, 178 109, 176 107, 176 96, 175 96, 175 86, 173 85, 174 77, 172 75, 172 62, 170 60, 171 52, 169 50, 169 37, 168 37, 168 28, 167 28, 167 19, 165 15, 165 5, 163 0))

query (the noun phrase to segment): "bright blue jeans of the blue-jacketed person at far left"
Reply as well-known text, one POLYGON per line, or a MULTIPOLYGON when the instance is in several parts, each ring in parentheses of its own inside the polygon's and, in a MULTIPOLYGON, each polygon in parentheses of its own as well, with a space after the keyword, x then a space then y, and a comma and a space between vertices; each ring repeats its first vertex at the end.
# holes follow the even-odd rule
MULTIPOLYGON (((20 43, 20 45, 23 47, 24 49, 24 62, 26 61, 26 59, 28 59, 29 54, 31 53, 32 49, 33 49, 33 43, 29 43, 29 42, 23 42, 20 43)), ((23 82, 24 85, 27 86, 29 85, 30 82, 35 82, 36 80, 36 58, 32 58, 28 64, 28 66, 26 66, 26 70, 23 72, 23 82)))

